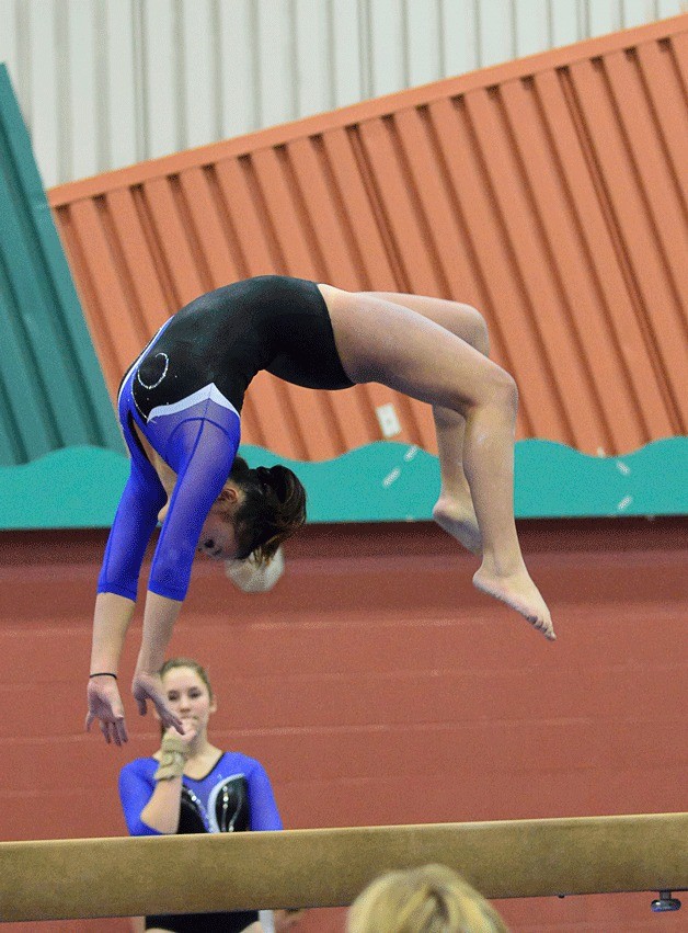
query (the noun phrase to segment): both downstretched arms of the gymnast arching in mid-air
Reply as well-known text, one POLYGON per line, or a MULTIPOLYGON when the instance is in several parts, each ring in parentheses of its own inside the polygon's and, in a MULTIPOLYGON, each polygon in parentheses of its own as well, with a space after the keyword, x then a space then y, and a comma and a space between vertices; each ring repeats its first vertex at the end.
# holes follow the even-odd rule
MULTIPOLYGON (((151 701, 162 725, 182 724, 169 708, 157 671, 172 637, 186 596, 198 538, 213 503, 230 474, 240 430, 239 416, 231 409, 229 423, 222 406, 216 412, 207 400, 202 417, 185 417, 173 425, 167 446, 168 462, 176 482, 153 557, 141 649, 133 683, 139 713, 151 701), (215 416, 215 418, 214 418, 215 416), (225 416, 222 421, 221 416, 225 416)), ((137 596, 138 577, 146 545, 158 522, 168 493, 151 463, 134 442, 128 443, 131 471, 113 524, 99 579, 99 600, 93 630, 93 663, 89 682, 87 728, 98 718, 106 741, 127 740, 124 710, 116 684, 117 664, 137 596)))

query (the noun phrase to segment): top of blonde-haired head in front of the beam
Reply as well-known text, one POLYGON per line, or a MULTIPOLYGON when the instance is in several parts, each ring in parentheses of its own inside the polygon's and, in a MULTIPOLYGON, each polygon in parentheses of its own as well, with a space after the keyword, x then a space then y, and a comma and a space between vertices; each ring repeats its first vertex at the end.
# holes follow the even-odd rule
POLYGON ((389 872, 348 912, 347 933, 508 933, 485 898, 445 865, 389 872))

